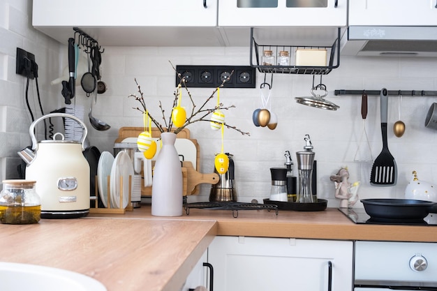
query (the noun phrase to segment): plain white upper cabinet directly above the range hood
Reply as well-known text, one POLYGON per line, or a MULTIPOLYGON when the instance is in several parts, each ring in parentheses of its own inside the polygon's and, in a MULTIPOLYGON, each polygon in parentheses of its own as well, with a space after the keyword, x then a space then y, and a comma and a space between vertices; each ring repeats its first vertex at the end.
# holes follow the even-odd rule
POLYGON ((352 0, 349 25, 437 25, 437 0, 352 0))

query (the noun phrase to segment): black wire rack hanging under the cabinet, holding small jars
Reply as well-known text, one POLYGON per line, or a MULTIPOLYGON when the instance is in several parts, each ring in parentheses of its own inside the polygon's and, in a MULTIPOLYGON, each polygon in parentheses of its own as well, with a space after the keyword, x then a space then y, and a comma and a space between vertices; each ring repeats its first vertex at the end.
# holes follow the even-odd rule
POLYGON ((253 27, 251 28, 251 46, 250 62, 251 66, 258 68, 260 73, 282 73, 282 74, 299 74, 299 75, 327 75, 332 69, 340 65, 340 38, 341 28, 338 28, 337 38, 331 46, 308 46, 308 45, 260 45, 255 41, 253 36, 253 27), (295 66, 295 53, 297 50, 326 50, 327 66, 295 66), (265 50, 272 50, 274 56, 280 51, 286 51, 290 54, 290 66, 263 66, 262 54, 265 50), (253 64, 253 52, 255 52, 255 61, 253 64), (336 61, 336 64, 334 64, 336 61))

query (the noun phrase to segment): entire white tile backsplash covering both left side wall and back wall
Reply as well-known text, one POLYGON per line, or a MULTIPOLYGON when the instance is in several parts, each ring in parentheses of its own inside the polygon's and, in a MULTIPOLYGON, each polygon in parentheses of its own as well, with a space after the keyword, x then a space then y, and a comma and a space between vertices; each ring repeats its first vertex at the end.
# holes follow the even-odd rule
MULTIPOLYGON (((39 65, 39 88, 45 113, 64 106, 61 86, 50 82, 62 75, 67 66, 66 45, 59 44, 31 28, 29 1, 6 0, 0 3, 0 112, 1 116, 1 179, 16 177, 13 163, 20 159, 16 151, 29 143, 30 117, 24 100, 25 78, 15 74, 16 47, 36 55, 39 65), (6 114, 6 117, 4 115, 6 114), (11 124, 11 125, 10 125, 11 124)), ((73 35, 73 33, 72 33, 73 35)), ((161 100, 170 112, 175 91, 175 72, 170 65, 249 65, 249 47, 105 47, 102 54, 102 81, 107 84, 105 94, 98 95, 94 105, 94 116, 112 127, 108 131, 97 131, 89 125, 85 114, 84 122, 89 128, 89 140, 101 151, 112 151, 118 130, 122 126, 142 126, 140 112, 133 110, 138 104, 132 98, 138 79, 151 114, 160 118, 158 101, 161 100), (170 61, 170 62, 169 62, 170 61)), ((399 98, 390 96, 388 112, 388 144, 397 161, 398 184, 393 187, 369 185, 372 163, 354 161, 357 144, 362 132, 360 114, 361 96, 334 96, 335 89, 379 90, 436 90, 436 58, 397 57, 341 57, 340 67, 323 77, 327 86, 327 100, 340 109, 333 112, 306 107, 295 102, 295 97, 311 96, 313 78, 309 75, 274 74, 271 90, 271 110, 278 116, 275 130, 255 127, 252 123, 253 110, 261 106, 260 84, 271 82, 272 75, 257 73, 255 89, 221 89, 221 102, 235 105, 225 112, 226 121, 250 136, 235 130, 225 130, 225 151, 234 154, 236 187, 239 200, 259 202, 269 196, 269 167, 281 167, 285 151, 301 151, 303 137, 311 135, 316 160, 318 161, 318 195, 329 200, 329 207, 337 207, 334 185, 329 176, 339 167, 348 166, 350 181, 361 181, 360 197, 403 197, 410 179, 416 170, 420 179, 437 183, 437 132, 424 127, 429 106, 436 97, 403 96, 401 120, 406 124, 403 137, 395 137, 392 124, 399 119, 399 98)), ((314 82, 318 84, 320 77, 314 82)), ((31 107, 38 112, 35 83, 31 81, 31 107)), ((210 88, 190 89, 196 105, 211 93, 210 88)), ((188 96, 183 96, 188 106, 188 96)), ((214 99, 215 100, 215 99, 214 99)), ((75 103, 88 112, 90 100, 77 86, 75 103)), ((212 104, 213 105, 213 104, 212 104)), ((371 144, 373 158, 382 149, 380 134, 380 112, 378 96, 369 96, 369 114, 365 121, 366 132, 371 144)), ((39 115, 38 115, 39 116, 39 115)), ((208 123, 197 123, 189 127, 191 137, 198 140, 201 151, 201 172, 212 172, 214 154, 221 149, 221 135, 209 128, 208 123)), ((297 164, 294 174, 297 175, 297 164)), ((188 201, 206 201, 211 186, 202 185, 200 195, 188 201)), ((362 207, 358 204, 357 207, 362 207)))

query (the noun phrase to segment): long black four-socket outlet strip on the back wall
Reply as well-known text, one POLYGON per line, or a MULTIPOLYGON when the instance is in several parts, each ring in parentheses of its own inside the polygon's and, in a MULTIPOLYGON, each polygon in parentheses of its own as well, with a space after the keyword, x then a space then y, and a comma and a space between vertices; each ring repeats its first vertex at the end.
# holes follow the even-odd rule
POLYGON ((184 77, 186 87, 255 88, 255 68, 251 66, 176 66, 176 85, 184 77))

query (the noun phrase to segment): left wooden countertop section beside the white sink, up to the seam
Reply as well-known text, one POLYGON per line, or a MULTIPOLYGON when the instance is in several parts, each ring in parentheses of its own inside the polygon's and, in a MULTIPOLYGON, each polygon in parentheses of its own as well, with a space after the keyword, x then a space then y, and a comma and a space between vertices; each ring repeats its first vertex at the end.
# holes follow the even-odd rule
POLYGON ((215 234, 214 221, 42 219, 0 225, 0 260, 76 271, 108 291, 178 291, 215 234))

